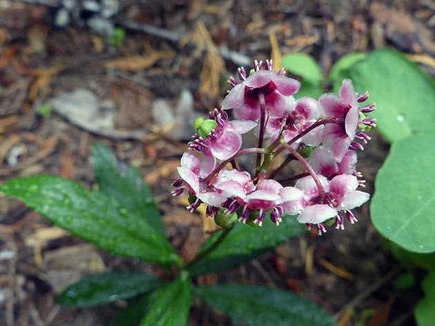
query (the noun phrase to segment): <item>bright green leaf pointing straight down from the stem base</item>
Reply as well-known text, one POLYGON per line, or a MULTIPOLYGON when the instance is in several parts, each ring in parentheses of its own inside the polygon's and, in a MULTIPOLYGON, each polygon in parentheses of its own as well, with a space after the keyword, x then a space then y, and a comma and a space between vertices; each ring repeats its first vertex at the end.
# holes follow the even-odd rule
POLYGON ((191 281, 182 275, 155 290, 149 297, 148 312, 140 326, 187 325, 191 308, 191 281))

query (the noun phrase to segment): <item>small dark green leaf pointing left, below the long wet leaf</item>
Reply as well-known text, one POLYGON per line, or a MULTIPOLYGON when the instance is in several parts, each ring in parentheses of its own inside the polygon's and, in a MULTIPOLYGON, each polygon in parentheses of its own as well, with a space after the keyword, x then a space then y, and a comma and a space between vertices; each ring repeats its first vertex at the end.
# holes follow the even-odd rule
POLYGON ((68 307, 88 307, 123 300, 154 289, 158 278, 135 272, 108 272, 82 278, 70 285, 56 301, 68 307))

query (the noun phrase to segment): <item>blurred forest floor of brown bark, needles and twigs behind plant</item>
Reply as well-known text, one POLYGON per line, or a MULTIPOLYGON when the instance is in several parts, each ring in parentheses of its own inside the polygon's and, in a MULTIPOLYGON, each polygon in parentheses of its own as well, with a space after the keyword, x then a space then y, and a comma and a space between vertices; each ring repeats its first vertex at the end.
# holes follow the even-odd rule
MULTIPOLYGON (((92 187, 90 147, 105 143, 144 174, 171 243, 192 258, 215 225, 187 212, 186 198, 172 198, 171 182, 193 120, 219 107, 236 68, 303 52, 327 76, 345 54, 391 47, 434 77, 434 26, 430 0, 0 0, 0 182, 50 173, 92 187)), ((371 193, 389 149, 372 136, 358 163, 371 193)), ((346 232, 314 230, 197 282, 288 289, 340 326, 415 325, 420 290, 392 285, 397 263, 368 205, 358 216, 346 232)), ((127 268, 159 273, 101 253, 0 196, 0 325, 108 325, 125 303, 66 309, 54 298, 82 276, 127 268)), ((189 323, 235 325, 199 302, 189 323)))

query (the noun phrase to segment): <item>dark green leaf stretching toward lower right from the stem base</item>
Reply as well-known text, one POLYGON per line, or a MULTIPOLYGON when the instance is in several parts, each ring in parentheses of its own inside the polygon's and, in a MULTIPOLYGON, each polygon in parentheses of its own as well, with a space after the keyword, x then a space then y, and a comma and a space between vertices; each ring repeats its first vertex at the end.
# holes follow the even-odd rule
POLYGON ((196 287, 195 294, 211 307, 248 326, 332 326, 323 309, 289 291, 270 287, 217 285, 196 287))

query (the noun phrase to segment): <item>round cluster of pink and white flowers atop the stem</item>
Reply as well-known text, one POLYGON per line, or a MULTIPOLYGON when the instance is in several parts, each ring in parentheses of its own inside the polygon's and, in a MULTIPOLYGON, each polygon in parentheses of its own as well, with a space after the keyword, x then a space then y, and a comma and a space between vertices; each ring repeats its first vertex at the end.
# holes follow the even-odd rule
POLYGON ((209 119, 195 121, 197 133, 182 156, 173 195, 187 189, 191 212, 204 203, 210 216, 237 214, 242 223, 262 225, 269 216, 279 225, 284 214, 298 215, 300 223, 316 225, 322 234, 325 225, 343 230, 345 218, 357 222, 351 210, 369 200, 369 194, 357 190, 365 187, 356 171, 357 151, 364 150, 362 143, 370 140, 367 132, 376 126, 375 119, 365 116, 375 106, 360 104, 368 92, 357 94, 346 79, 338 96, 296 100, 300 83, 284 70, 274 72, 271 60, 255 61, 249 75, 239 68, 238 79, 230 77, 229 83, 233 88, 221 108, 209 119), (229 119, 227 110, 236 120, 229 119), (251 130, 258 147, 242 149, 241 135, 251 130), (238 167, 235 159, 245 154, 256 154, 255 172, 238 167), (274 170, 271 161, 286 154, 274 170), (276 181, 292 160, 305 172, 276 181))

